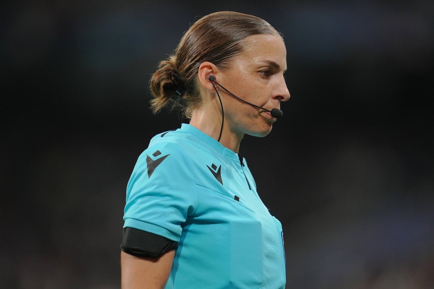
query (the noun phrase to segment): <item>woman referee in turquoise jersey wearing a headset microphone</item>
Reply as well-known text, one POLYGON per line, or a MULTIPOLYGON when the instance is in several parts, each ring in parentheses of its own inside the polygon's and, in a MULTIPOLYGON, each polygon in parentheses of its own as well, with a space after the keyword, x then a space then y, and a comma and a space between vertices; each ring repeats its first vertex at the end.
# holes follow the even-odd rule
POLYGON ((131 175, 123 288, 284 288, 282 226, 238 151, 281 116, 285 70, 281 35, 229 11, 196 21, 160 63, 154 112, 181 107, 190 121, 155 136, 131 175))

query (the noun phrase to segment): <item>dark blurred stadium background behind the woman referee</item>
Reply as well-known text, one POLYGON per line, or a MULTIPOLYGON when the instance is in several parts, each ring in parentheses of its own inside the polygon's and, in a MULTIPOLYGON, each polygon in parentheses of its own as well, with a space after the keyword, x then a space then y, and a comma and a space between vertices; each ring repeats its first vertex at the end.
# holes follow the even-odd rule
POLYGON ((148 80, 198 17, 284 34, 291 92, 241 153, 287 288, 434 288, 434 2, 15 1, 0 10, 0 288, 120 288, 125 187, 177 113, 148 80))

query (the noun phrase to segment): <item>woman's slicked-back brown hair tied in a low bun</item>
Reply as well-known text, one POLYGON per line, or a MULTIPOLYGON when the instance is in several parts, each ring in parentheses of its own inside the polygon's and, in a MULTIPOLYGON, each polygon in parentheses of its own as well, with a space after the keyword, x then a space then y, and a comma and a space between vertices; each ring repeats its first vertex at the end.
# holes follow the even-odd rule
POLYGON ((196 84, 200 64, 208 61, 219 69, 227 68, 243 51, 244 39, 258 34, 281 36, 265 20, 239 12, 215 12, 197 20, 181 38, 174 55, 161 61, 151 77, 153 112, 180 106, 190 118, 202 101, 196 84))

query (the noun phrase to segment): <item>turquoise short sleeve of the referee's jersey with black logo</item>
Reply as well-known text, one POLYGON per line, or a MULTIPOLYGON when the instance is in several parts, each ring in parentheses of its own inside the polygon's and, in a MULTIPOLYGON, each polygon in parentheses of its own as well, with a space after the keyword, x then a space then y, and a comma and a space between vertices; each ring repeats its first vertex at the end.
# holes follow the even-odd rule
POLYGON ((127 185, 124 227, 179 241, 197 206, 191 162, 174 143, 157 143, 138 158, 127 185))

